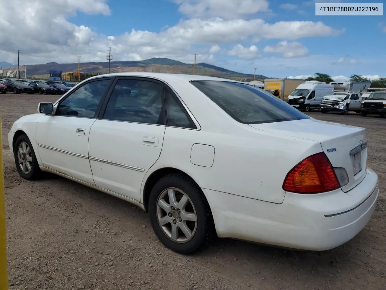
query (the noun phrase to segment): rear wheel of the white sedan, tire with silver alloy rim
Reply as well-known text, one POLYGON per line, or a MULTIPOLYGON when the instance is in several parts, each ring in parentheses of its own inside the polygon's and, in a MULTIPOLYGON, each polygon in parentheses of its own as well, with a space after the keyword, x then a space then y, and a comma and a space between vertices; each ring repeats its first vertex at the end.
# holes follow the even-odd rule
POLYGON ((189 177, 182 174, 169 174, 157 181, 149 196, 149 215, 154 233, 161 243, 179 254, 190 254, 201 249, 210 241, 214 232, 212 212, 208 201, 200 187, 189 177), (174 200, 178 201, 177 204, 174 203, 175 208, 171 207, 173 203, 169 201, 169 191, 171 195, 176 196, 174 200), (187 197, 185 198, 186 206, 178 205, 182 200, 182 198, 179 198, 180 196, 187 197), (162 208, 159 206, 159 201, 163 203, 162 208), (185 210, 186 208, 187 210, 185 210), (184 223, 183 215, 179 219, 178 210, 191 213, 189 217, 192 219, 188 219, 186 220, 188 223, 184 223), (195 222, 193 217, 196 219, 195 222), (159 221, 163 219, 165 223, 161 226, 159 221), (178 220, 179 222, 177 222, 178 220), (176 224, 176 226, 173 226, 173 224, 176 224), (189 233, 192 234, 190 237, 184 234, 181 227, 178 227, 181 224, 188 226, 189 233), (174 237, 172 227, 176 229, 174 237))

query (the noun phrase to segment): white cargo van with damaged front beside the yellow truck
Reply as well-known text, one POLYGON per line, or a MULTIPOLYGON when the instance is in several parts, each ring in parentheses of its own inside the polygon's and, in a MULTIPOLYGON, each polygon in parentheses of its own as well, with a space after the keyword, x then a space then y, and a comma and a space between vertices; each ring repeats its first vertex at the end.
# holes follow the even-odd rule
POLYGON ((319 109, 324 96, 334 94, 334 85, 309 80, 300 84, 288 96, 288 104, 305 112, 312 109, 319 109))

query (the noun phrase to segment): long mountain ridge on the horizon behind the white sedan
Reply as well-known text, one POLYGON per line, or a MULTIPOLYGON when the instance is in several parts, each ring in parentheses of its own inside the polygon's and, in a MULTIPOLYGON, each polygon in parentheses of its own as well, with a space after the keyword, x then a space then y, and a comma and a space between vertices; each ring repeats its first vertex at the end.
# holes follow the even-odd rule
MULTIPOLYGON (((183 63, 169 58, 151 58, 141 61, 112 61, 110 63, 111 72, 163 72, 163 73, 193 73, 193 64, 183 63)), ((26 65, 20 67, 20 71, 26 68, 29 78, 48 78, 50 70, 61 70, 63 72, 78 71, 78 63, 56 63, 49 62, 42 65, 26 65)), ((14 68, 13 68, 14 69, 14 68)), ((10 68, 12 70, 12 68, 10 68)), ((87 62, 80 63, 81 72, 108 73, 108 62, 87 62)), ((207 75, 212 77, 222 77, 234 80, 252 80, 253 75, 234 72, 222 67, 216 67, 208 63, 196 64, 197 75, 207 75)), ((256 75, 257 80, 263 80, 264 75, 256 75)))

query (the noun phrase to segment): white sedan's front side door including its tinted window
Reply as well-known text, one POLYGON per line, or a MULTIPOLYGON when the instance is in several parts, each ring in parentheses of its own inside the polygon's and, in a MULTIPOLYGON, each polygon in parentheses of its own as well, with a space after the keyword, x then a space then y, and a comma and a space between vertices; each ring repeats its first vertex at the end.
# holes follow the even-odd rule
POLYGON ((39 119, 36 141, 42 166, 94 184, 88 138, 112 81, 90 80, 55 104, 54 115, 39 119))

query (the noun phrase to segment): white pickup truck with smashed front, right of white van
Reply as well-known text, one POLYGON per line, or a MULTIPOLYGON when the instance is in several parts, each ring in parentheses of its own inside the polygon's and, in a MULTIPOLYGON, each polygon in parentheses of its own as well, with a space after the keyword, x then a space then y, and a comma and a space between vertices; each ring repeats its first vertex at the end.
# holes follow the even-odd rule
POLYGON ((335 91, 331 96, 324 96, 320 105, 322 113, 339 112, 342 115, 349 111, 361 113, 361 94, 359 92, 335 91))

